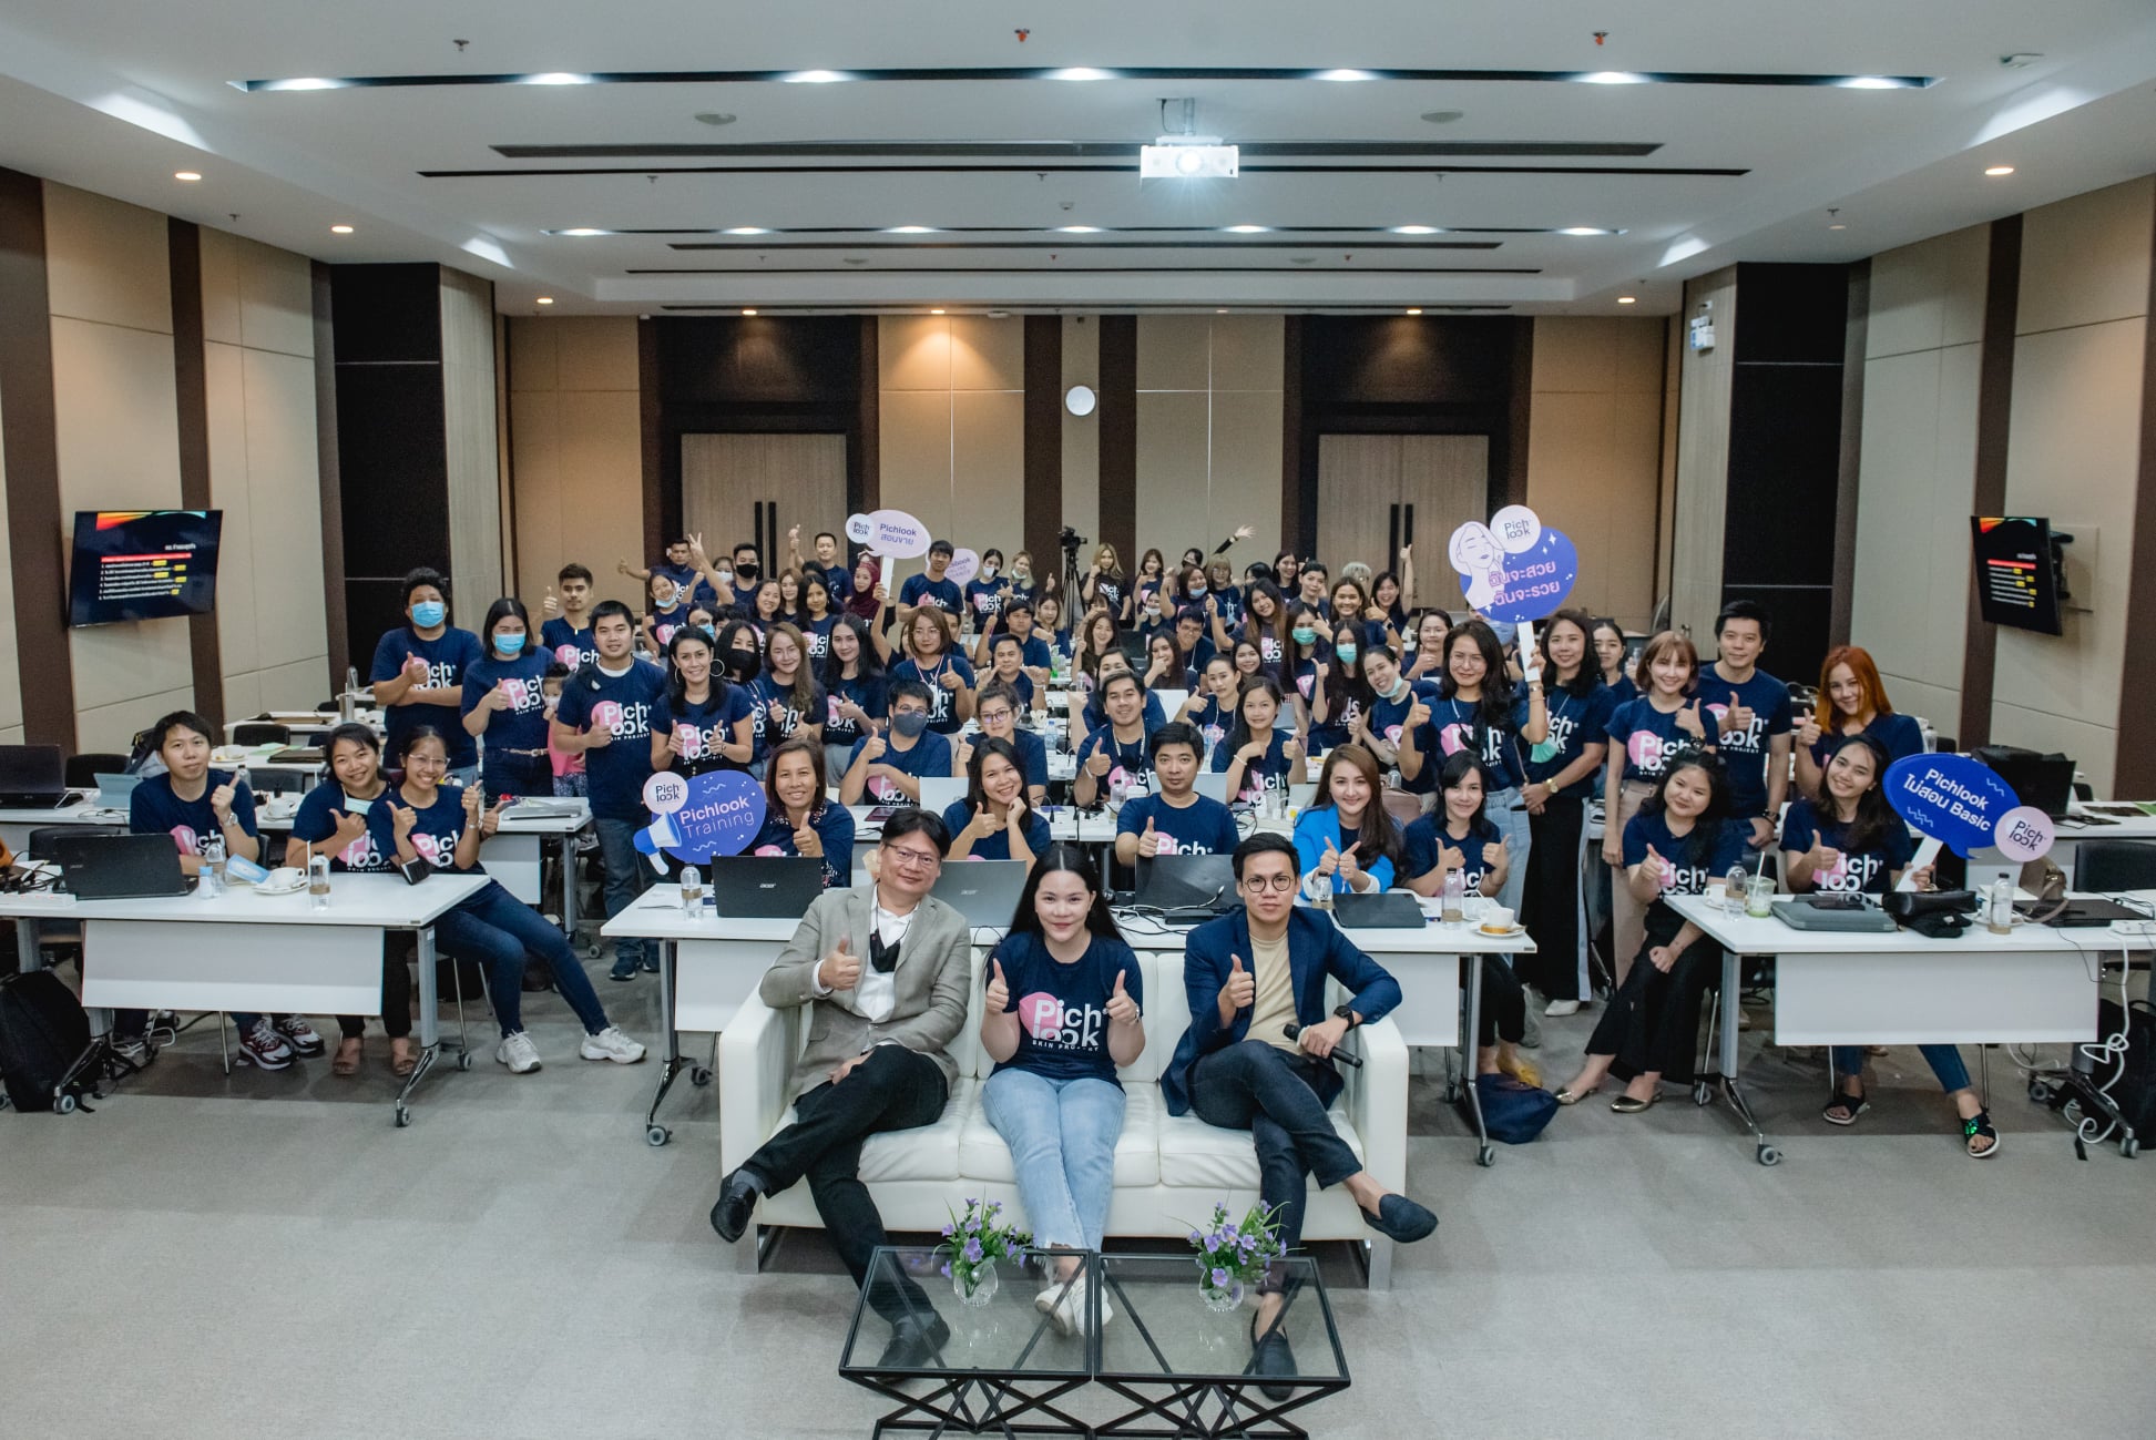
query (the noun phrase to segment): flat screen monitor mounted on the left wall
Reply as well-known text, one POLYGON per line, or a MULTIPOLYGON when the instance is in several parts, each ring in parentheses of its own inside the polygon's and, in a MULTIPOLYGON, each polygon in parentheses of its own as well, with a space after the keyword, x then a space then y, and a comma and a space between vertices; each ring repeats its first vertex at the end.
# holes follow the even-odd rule
POLYGON ((224 511, 75 511, 69 625, 209 614, 224 511))

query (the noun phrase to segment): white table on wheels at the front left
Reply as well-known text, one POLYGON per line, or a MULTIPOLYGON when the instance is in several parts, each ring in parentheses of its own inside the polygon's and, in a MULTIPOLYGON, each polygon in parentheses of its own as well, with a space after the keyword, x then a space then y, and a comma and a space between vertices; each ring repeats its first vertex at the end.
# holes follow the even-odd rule
MULTIPOLYGON (((226 886, 222 895, 168 899, 78 901, 37 890, 0 895, 0 916, 17 925, 22 961, 41 964, 39 920, 82 925, 82 1002, 110 1009, 259 1011, 265 1015, 379 1015, 382 936, 418 936, 418 1067, 395 1102, 399 1127, 442 1048, 433 923, 479 892, 485 875, 336 875, 330 903, 315 910, 295 895, 257 895, 226 886)), ((459 1041, 457 1069, 472 1067, 459 1041)))

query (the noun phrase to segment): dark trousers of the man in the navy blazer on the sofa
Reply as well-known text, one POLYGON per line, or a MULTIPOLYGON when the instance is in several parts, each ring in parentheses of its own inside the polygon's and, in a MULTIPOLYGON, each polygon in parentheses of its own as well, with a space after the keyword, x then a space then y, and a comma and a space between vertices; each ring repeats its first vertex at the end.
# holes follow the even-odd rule
POLYGON ((1190 1067, 1190 1108, 1207 1125, 1248 1130, 1257 1143, 1257 1196, 1281 1211, 1281 1244, 1302 1244, 1304 1181, 1337 1186, 1363 1162, 1332 1130, 1317 1084, 1332 1061, 1246 1039, 1190 1067))

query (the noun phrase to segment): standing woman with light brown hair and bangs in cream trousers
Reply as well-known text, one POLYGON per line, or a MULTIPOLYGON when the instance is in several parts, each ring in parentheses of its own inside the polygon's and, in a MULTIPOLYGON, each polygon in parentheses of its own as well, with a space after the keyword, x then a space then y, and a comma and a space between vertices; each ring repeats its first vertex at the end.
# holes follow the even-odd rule
MULTIPOLYGON (((1634 683, 1643 694, 1611 709, 1604 722, 1608 750, 1602 761, 1602 793, 1608 798, 1608 821, 1602 830, 1602 860, 1613 869, 1626 864, 1626 823, 1654 793, 1669 761, 1684 750, 1714 750, 1714 716, 1701 716, 1699 701, 1692 698, 1699 686, 1699 651, 1690 640, 1669 629, 1647 640, 1647 649, 1639 653, 1634 683)), ((1639 953, 1643 920, 1645 908, 1632 899, 1623 875, 1613 873, 1611 936, 1619 983, 1632 955, 1639 953)))

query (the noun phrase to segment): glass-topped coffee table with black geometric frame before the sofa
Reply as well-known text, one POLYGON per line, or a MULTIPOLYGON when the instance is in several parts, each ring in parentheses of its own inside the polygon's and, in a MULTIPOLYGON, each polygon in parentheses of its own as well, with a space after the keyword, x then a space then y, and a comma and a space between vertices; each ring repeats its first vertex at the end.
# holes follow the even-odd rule
POLYGON ((869 1261, 839 1375, 897 1401, 873 1436, 1300 1438, 1285 1416, 1345 1390, 1348 1356, 1317 1263, 1298 1257, 1279 1272, 1296 1373, 1261 1380, 1250 1358, 1257 1296, 1207 1306, 1186 1255, 1084 1255, 1082 1324, 1063 1334, 1035 1309, 1035 1270, 998 1265, 994 1293, 968 1304, 931 1248, 886 1246, 869 1261), (927 1339, 923 1354, 886 1358, 893 1319, 927 1339))

